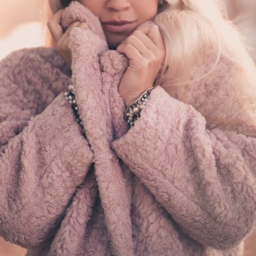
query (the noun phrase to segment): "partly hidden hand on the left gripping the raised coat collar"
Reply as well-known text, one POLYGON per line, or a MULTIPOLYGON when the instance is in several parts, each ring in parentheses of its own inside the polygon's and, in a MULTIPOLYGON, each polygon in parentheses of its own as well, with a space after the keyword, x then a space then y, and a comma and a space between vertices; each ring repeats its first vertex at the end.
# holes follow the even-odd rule
POLYGON ((84 29, 89 28, 85 22, 80 22, 79 20, 76 20, 69 25, 65 32, 63 32, 63 28, 60 25, 61 15, 63 11, 64 9, 57 11, 57 13, 53 15, 51 19, 49 19, 47 26, 49 28, 49 31, 51 32, 57 52, 60 53, 61 57, 63 57, 69 67, 71 67, 72 54, 71 49, 69 48, 70 32, 74 27, 80 27, 84 29))

